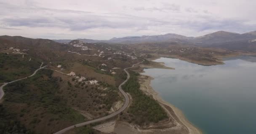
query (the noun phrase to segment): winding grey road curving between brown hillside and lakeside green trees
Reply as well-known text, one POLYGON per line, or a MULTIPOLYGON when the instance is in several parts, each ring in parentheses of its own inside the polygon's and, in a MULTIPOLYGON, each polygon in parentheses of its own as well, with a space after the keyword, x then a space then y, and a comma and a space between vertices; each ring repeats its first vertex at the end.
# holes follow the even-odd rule
MULTIPOLYGON (((142 60, 143 60, 142 62, 144 62, 144 59, 142 59, 142 60)), ((132 67, 134 67, 135 65, 140 64, 140 63, 142 63, 142 62, 133 64, 132 67)), ((119 87, 118 87, 118 89, 120 90, 120 92, 121 92, 121 93, 123 94, 123 96, 125 97, 125 103, 124 103, 124 105, 122 106, 122 108, 120 108, 118 111, 115 111, 114 113, 109 114, 108 116, 104 116, 104 117, 101 117, 101 118, 98 118, 98 119, 94 119, 94 120, 91 120, 91 121, 86 121, 86 122, 83 122, 83 123, 80 123, 80 124, 75 124, 75 125, 73 125, 73 126, 69 126, 69 127, 65 128, 65 129, 62 129, 61 131, 58 131, 58 132, 56 132, 56 133, 54 133, 54 134, 63 134, 65 131, 68 131, 68 130, 70 130, 70 129, 74 129, 75 127, 85 126, 85 125, 88 125, 88 124, 91 124, 91 123, 95 123, 95 122, 99 122, 99 121, 104 121, 104 120, 109 119, 109 118, 112 118, 112 117, 116 116, 117 114, 121 113, 122 111, 124 111, 125 108, 128 107, 128 104, 129 104, 129 102, 130 102, 130 99, 129 99, 128 95, 125 93, 125 91, 123 91, 122 85, 124 85, 125 82, 127 82, 127 81, 129 80, 129 78, 130 78, 130 74, 129 74, 129 72, 126 71, 126 70, 129 69, 129 68, 132 68, 132 67, 128 67, 128 68, 125 68, 125 69, 124 69, 124 71, 125 71, 126 74, 127 74, 127 78, 126 78, 126 80, 125 80, 123 83, 121 83, 121 84, 119 85, 119 87)))

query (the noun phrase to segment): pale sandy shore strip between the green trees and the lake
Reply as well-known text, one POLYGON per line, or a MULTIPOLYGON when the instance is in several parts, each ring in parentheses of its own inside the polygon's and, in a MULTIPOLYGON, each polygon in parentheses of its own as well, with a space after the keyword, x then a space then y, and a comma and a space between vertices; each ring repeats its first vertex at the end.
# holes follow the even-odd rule
MULTIPOLYGON (((153 77, 147 76, 147 75, 140 75, 139 76, 139 80, 140 80, 140 84, 141 84, 141 90, 143 90, 144 92, 150 94, 153 96, 153 98, 155 100, 157 100, 162 106, 164 107, 169 107, 173 110, 175 115, 172 115, 174 119, 176 119, 177 122, 179 122, 181 125, 184 125, 189 133, 188 134, 202 134, 202 131, 200 131, 200 129, 196 128, 195 126, 193 126, 184 116, 184 114, 182 113, 181 110, 179 110, 178 108, 176 108, 175 106, 173 106, 172 104, 163 101, 162 98, 160 98, 160 96, 158 95, 158 93, 150 86, 151 80, 154 80, 153 77), (177 118, 175 118, 175 116, 177 118)), ((173 114, 171 113, 171 111, 168 110, 168 108, 165 108, 165 110, 169 113, 169 114, 173 114)))

